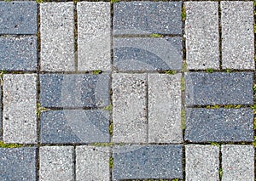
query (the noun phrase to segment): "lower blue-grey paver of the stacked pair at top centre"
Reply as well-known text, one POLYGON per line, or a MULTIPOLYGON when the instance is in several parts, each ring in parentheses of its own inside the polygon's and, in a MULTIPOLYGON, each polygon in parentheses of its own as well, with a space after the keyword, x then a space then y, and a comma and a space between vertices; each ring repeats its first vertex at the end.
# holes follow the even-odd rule
POLYGON ((181 70, 182 37, 115 37, 113 65, 120 71, 181 70))

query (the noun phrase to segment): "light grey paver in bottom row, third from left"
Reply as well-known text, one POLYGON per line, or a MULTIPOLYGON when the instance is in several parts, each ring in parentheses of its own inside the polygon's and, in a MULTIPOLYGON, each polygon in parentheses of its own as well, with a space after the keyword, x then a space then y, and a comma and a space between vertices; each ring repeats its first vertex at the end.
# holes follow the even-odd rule
POLYGON ((76 180, 110 180, 108 147, 76 147, 76 180))

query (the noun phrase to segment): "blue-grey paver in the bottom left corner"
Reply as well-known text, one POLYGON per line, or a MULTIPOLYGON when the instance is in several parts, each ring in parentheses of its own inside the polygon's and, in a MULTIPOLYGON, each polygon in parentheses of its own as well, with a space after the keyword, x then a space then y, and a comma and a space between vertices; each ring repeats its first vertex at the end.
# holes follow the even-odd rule
POLYGON ((0 180, 37 180, 37 149, 0 148, 0 180))

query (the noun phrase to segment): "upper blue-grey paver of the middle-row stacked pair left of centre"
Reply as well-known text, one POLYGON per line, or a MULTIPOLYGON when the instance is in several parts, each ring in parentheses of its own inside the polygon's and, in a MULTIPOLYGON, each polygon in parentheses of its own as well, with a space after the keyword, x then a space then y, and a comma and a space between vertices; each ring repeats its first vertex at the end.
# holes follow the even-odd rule
POLYGON ((41 105, 44 107, 105 107, 109 105, 109 76, 40 75, 41 105))

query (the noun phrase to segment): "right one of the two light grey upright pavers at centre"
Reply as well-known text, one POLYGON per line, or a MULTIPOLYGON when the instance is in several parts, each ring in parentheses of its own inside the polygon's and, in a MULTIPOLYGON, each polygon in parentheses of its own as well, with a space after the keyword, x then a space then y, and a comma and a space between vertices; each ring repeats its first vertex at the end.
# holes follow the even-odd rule
POLYGON ((181 143, 181 74, 148 74, 148 139, 181 143))

